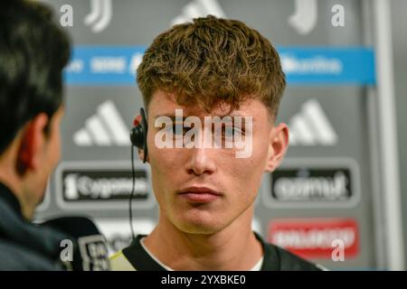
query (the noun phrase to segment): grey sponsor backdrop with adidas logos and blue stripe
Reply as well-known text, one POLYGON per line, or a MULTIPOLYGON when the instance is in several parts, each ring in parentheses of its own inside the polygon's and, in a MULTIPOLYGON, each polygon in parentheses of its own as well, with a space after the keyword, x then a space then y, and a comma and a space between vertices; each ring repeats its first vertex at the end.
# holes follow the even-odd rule
MULTIPOLYGON (((52 0, 71 5, 75 43, 66 70, 62 162, 37 219, 92 217, 111 252, 130 239, 128 130, 142 106, 135 70, 154 37, 193 16, 240 19, 278 47, 289 87, 279 120, 289 124, 287 159, 264 176, 253 228, 330 269, 380 267, 368 153, 366 93, 374 49, 364 42, 362 1, 52 0), (304 5, 306 3, 306 5, 304 5), (332 23, 341 5, 345 26, 332 23), (344 121, 344 118, 346 121, 344 121), (333 241, 342 243, 333 247, 333 241), (343 246, 343 260, 332 252, 343 246)), ((147 165, 136 161, 134 229, 147 234, 157 206, 147 165)))

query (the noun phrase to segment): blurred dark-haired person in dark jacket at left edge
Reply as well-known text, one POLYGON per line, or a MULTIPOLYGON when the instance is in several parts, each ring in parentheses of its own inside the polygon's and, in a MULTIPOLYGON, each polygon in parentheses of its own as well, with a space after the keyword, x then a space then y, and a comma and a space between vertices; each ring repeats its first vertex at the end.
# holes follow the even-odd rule
POLYGON ((63 236, 31 223, 61 154, 70 42, 52 11, 0 3, 0 270, 60 270, 63 236))

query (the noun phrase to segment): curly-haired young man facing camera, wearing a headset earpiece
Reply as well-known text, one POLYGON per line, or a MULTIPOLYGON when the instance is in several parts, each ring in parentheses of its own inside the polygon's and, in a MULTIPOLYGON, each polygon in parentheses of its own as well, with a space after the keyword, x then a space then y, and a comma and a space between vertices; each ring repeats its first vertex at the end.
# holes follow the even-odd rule
POLYGON ((156 37, 137 84, 148 127, 138 154, 159 219, 111 257, 112 269, 320 270, 251 229, 262 176, 289 144, 288 126, 276 124, 286 79, 270 42, 240 21, 197 18, 156 37))

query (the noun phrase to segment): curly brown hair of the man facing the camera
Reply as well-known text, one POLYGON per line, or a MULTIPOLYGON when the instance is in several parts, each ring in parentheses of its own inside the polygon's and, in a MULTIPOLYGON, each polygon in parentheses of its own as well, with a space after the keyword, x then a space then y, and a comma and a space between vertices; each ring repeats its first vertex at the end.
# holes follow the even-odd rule
POLYGON ((162 89, 175 93, 179 105, 206 111, 255 98, 276 117, 286 79, 279 54, 258 31, 208 15, 159 34, 138 66, 137 84, 147 108, 162 89))

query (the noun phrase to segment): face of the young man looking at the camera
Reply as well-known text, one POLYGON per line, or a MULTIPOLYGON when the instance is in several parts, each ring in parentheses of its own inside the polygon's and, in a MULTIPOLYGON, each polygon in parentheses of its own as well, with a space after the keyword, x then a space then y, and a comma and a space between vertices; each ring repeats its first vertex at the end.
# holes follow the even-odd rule
POLYGON ((222 117, 229 110, 216 106, 207 114, 196 107, 181 107, 174 95, 162 90, 156 90, 148 107, 148 158, 160 213, 182 231, 213 234, 251 208, 273 151, 274 126, 267 108, 252 99, 231 114, 252 117, 250 156, 237 158, 235 149, 224 147, 158 148, 155 138, 162 128, 155 127, 156 117, 175 115, 175 108, 182 108, 184 117, 200 117, 203 126, 205 116, 222 117), (214 193, 185 192, 191 187, 214 193))

